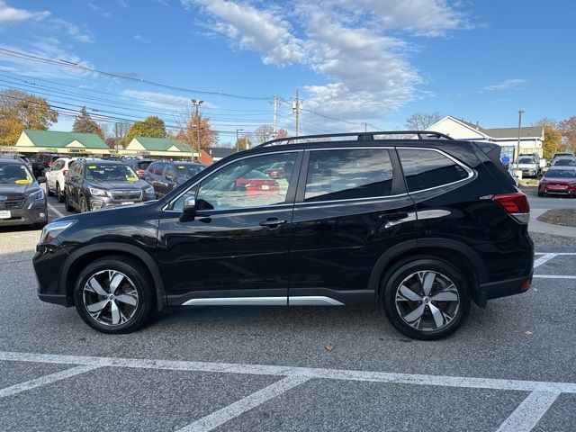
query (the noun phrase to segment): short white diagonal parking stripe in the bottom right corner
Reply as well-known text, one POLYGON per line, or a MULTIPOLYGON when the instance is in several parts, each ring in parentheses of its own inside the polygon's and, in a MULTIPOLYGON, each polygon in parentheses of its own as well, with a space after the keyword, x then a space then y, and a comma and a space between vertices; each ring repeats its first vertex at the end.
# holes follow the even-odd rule
POLYGON ((542 419, 558 396, 560 393, 531 392, 496 432, 529 432, 542 419))

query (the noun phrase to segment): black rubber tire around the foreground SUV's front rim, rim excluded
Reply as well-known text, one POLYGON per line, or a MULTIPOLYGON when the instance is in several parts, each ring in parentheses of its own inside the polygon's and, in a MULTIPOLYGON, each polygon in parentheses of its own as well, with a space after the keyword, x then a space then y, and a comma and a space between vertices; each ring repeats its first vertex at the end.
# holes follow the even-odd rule
MULTIPOLYGON (((90 293, 90 295, 92 294, 90 293)), ((141 328, 154 315, 156 304, 155 299, 154 285, 148 276, 147 269, 129 257, 110 256, 94 261, 82 270, 80 275, 78 275, 76 284, 74 285, 74 303, 76 305, 76 311, 78 311, 78 314, 88 326, 102 333, 130 333, 131 331, 141 328), (113 270, 126 275, 129 282, 133 283, 134 288, 138 292, 138 305, 136 306, 135 311, 133 311, 133 315, 130 316, 129 320, 121 324, 106 325, 101 321, 94 319, 85 306, 85 284, 94 275, 105 270, 113 270)))

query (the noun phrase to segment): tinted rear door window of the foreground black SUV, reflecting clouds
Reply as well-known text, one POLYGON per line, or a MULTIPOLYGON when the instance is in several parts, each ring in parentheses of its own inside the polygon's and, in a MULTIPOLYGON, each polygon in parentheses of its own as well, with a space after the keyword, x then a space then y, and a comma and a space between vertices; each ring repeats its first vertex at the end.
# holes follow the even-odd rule
POLYGON ((392 192, 392 162, 385 148, 316 150, 310 155, 304 201, 347 200, 392 192))

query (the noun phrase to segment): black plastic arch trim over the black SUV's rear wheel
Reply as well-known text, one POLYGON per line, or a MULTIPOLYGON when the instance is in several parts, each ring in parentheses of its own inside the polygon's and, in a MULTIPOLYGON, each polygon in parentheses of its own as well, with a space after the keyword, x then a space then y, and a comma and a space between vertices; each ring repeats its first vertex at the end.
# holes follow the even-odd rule
POLYGON ((430 257, 441 259, 461 270, 470 289, 473 302, 481 308, 486 306, 486 294, 480 284, 487 281, 482 260, 472 247, 446 238, 422 238, 405 241, 388 249, 378 259, 370 275, 370 289, 374 290, 375 302, 379 302, 383 277, 387 270, 402 260, 410 257, 430 257), (463 271, 464 269, 464 271, 463 271))

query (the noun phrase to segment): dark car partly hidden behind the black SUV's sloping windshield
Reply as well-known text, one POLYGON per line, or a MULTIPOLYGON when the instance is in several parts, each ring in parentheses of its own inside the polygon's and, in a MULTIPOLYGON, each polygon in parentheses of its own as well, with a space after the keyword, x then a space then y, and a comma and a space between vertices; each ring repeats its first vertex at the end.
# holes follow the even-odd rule
POLYGON ((148 166, 144 180, 154 187, 157 197, 164 196, 175 187, 194 175, 197 175, 206 166, 197 162, 172 162, 157 160, 148 166))

